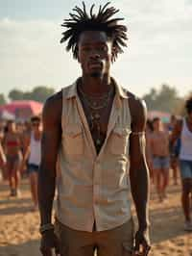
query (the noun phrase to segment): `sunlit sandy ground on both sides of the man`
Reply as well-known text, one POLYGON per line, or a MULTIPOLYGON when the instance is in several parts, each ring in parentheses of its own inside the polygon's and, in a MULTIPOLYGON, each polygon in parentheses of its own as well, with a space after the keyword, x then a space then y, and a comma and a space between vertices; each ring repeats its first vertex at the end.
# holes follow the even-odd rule
MULTIPOLYGON (((38 213, 31 211, 29 185, 22 181, 22 197, 10 199, 8 186, 0 184, 0 256, 38 256, 38 213)), ((180 186, 170 186, 168 201, 159 204, 152 189, 152 256, 192 256, 192 233, 183 231, 180 186)))

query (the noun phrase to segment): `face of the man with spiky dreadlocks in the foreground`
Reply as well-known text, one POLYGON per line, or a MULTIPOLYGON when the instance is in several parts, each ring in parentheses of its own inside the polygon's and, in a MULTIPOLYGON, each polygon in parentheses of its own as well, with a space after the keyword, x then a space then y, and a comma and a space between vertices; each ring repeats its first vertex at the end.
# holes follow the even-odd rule
POLYGON ((78 60, 84 75, 103 77, 107 74, 111 61, 111 41, 105 32, 85 31, 79 39, 78 60))

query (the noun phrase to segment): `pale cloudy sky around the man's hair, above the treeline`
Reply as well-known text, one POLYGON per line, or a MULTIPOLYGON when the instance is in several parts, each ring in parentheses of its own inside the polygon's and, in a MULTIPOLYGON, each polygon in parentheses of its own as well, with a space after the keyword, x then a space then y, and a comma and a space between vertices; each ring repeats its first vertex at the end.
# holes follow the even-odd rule
MULTIPOLYGON (((107 1, 84 0, 95 11, 107 1)), ((77 0, 0 0, 0 93, 55 90, 72 84, 81 68, 60 44, 60 24, 77 0)), ((192 90, 192 0, 113 0, 129 43, 111 75, 138 96, 162 84, 181 96, 192 90)))

